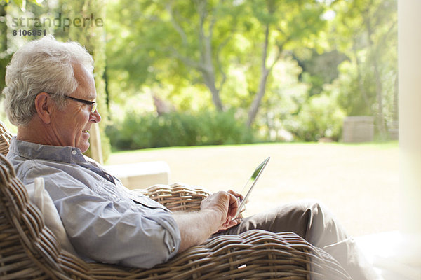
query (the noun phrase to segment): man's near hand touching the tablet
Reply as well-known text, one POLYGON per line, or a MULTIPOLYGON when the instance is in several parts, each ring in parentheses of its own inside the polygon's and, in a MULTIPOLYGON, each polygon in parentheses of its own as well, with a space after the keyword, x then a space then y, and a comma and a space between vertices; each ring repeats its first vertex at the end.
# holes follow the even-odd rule
POLYGON ((227 230, 239 223, 237 220, 232 220, 239 207, 237 197, 233 193, 233 191, 220 191, 209 195, 201 202, 201 210, 212 210, 220 215, 220 225, 215 232, 227 230))

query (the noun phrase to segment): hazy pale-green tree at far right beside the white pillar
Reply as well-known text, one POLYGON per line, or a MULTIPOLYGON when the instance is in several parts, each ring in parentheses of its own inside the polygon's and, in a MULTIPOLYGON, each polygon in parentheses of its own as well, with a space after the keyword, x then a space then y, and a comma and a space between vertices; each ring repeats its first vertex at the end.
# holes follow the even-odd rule
POLYGON ((396 1, 340 1, 335 11, 335 31, 340 34, 335 42, 352 64, 342 68, 342 75, 350 75, 342 84, 342 106, 349 115, 375 116, 384 139, 386 121, 396 118, 397 107, 396 1))

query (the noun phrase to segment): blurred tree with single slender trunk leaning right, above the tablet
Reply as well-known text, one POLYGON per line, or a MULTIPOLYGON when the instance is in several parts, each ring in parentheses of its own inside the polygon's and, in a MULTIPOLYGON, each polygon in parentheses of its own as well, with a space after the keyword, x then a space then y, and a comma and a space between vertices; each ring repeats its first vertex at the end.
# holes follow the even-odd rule
POLYGON ((317 34, 325 26, 321 15, 325 7, 317 1, 252 1, 254 18, 264 29, 261 71, 257 93, 248 111, 247 124, 255 119, 266 92, 267 79, 285 50, 314 45, 317 34), (272 34, 271 34, 272 33, 272 34), (269 57, 269 52, 272 57, 269 57), (272 60, 268 62, 268 60, 272 60), (267 65, 269 63, 269 65, 267 65))

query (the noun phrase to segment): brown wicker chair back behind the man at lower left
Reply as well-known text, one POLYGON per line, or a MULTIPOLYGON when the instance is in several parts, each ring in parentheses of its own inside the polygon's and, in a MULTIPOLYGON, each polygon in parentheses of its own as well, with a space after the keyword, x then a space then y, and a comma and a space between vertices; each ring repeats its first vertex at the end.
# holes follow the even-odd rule
POLYGON ((4 155, 0 197, 0 279, 71 279, 75 270, 87 274, 83 260, 61 249, 4 155))

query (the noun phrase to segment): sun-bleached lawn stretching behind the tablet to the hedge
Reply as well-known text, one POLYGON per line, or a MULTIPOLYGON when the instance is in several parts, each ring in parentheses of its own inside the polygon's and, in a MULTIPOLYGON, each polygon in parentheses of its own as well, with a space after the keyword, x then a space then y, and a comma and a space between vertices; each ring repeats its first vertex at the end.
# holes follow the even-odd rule
POLYGON ((255 165, 271 160, 246 214, 293 200, 326 204, 354 236, 397 230, 399 147, 380 144, 253 144, 112 153, 107 164, 164 160, 171 182, 241 190, 255 165))

